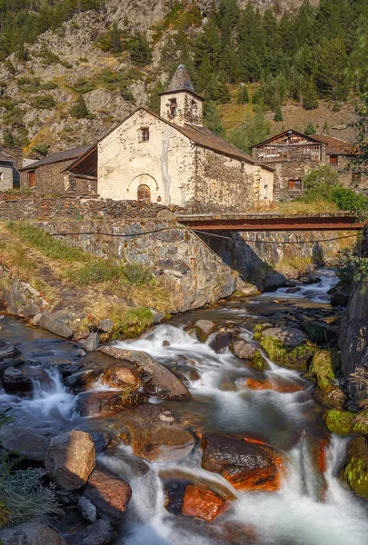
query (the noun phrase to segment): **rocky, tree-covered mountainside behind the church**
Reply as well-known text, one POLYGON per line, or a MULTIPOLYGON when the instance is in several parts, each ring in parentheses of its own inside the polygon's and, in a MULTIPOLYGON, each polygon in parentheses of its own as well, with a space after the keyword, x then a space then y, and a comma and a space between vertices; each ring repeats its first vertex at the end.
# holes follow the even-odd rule
POLYGON ((283 13, 255 1, 151 4, 0 2, 0 142, 34 157, 89 144, 136 106, 157 111, 180 63, 206 98, 205 123, 244 150, 310 123, 353 139, 368 78, 365 0, 283 13))

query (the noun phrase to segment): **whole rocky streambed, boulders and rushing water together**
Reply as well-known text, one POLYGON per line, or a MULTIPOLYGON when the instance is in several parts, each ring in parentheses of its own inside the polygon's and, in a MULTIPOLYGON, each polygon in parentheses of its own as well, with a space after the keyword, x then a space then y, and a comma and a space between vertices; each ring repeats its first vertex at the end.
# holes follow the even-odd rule
MULTIPOLYGON (((330 359, 343 308, 329 303, 332 272, 314 277, 177 314, 93 354, 5 317, 15 347, 2 347, 0 408, 15 421, 0 441, 45 461, 60 489, 65 516, 53 525, 64 537, 47 545, 86 545, 103 526, 94 542, 364 545, 352 455, 342 463, 347 440, 329 431, 350 402, 330 359)), ((339 432, 365 441, 362 421, 350 423, 339 432)))

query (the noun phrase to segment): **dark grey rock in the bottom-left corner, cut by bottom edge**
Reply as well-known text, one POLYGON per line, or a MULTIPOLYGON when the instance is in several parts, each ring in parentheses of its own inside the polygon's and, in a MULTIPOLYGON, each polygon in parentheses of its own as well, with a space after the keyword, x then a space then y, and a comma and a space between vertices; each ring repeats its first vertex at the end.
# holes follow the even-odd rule
POLYGON ((67 545, 59 532, 41 522, 24 522, 0 530, 0 542, 2 545, 67 545))

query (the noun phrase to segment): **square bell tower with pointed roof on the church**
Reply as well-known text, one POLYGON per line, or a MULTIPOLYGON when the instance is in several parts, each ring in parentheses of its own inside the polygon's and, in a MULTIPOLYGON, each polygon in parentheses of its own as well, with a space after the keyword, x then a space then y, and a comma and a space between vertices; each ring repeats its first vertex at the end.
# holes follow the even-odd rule
POLYGON ((160 93, 160 114, 170 123, 184 125, 203 124, 204 98, 194 91, 184 64, 180 64, 164 93, 160 93))

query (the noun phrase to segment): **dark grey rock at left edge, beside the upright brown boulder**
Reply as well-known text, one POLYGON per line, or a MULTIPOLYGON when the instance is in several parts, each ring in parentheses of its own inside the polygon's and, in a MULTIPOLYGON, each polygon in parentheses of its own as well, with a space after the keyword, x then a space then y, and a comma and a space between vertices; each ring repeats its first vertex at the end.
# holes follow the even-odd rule
POLYGON ((50 437, 42 431, 28 430, 15 422, 0 426, 0 444, 26 460, 45 461, 50 437))

